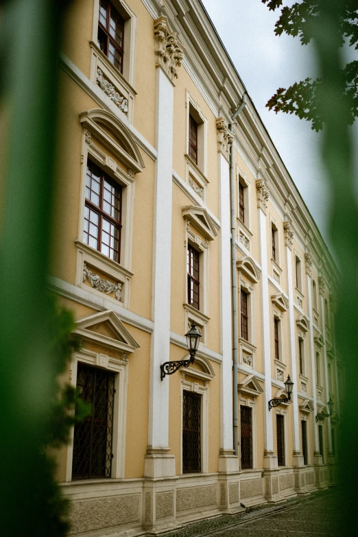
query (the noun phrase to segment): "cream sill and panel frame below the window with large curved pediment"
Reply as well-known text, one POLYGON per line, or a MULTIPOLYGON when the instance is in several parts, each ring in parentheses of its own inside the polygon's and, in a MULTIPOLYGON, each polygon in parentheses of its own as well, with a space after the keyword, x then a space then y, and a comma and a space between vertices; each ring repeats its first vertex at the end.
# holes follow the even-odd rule
POLYGON ((75 245, 77 248, 76 285, 82 287, 82 289, 85 289, 86 291, 97 294, 97 296, 101 296, 102 298, 114 300, 117 304, 128 309, 130 300, 130 279, 134 275, 133 272, 130 272, 125 267, 119 265, 119 263, 112 261, 112 259, 109 259, 109 257, 106 257, 104 254, 91 248, 91 246, 88 246, 88 244, 85 244, 79 239, 75 241, 75 245), (84 281, 84 263, 86 263, 86 267, 91 270, 95 276, 98 276, 105 281, 106 277, 109 277, 113 281, 110 283, 113 283, 114 285, 120 284, 120 296, 117 294, 119 298, 116 298, 115 291, 109 293, 107 293, 106 289, 104 289, 104 291, 99 291, 91 282, 89 282, 91 285, 87 285, 88 278, 86 278, 86 276, 84 281), (96 270, 99 274, 96 274, 96 270))

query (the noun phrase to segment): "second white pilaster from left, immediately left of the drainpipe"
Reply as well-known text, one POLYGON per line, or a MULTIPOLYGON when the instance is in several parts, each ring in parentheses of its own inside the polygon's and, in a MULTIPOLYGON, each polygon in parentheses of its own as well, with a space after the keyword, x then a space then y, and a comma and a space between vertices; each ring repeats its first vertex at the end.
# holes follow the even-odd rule
POLYGON ((230 267, 230 182, 229 164, 224 155, 217 154, 219 165, 220 241, 220 450, 232 453, 232 320, 230 267))

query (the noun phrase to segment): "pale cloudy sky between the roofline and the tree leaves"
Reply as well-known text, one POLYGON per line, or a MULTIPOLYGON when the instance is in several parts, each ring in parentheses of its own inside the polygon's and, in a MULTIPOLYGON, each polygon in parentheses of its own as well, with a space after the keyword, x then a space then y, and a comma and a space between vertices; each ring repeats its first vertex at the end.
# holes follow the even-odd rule
MULTIPOLYGON (((287 35, 275 36, 279 11, 268 10, 261 0, 202 2, 283 163, 329 243, 329 192, 318 153, 321 135, 311 130, 308 121, 265 108, 277 88, 287 88, 307 76, 315 77, 312 45, 302 46, 299 38, 287 35)), ((294 2, 285 2, 291 3, 294 2)))

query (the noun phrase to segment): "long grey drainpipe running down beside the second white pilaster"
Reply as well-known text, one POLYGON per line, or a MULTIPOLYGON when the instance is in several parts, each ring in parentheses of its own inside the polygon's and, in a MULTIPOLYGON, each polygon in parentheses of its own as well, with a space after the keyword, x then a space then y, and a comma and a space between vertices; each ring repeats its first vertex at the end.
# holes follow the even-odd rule
MULTIPOLYGON (((233 132, 235 119, 246 106, 246 93, 242 96, 242 101, 235 114, 231 118, 228 126, 233 132)), ((237 283, 236 283, 236 222, 235 222, 235 180, 234 180, 234 154, 233 143, 230 145, 230 214, 231 214, 231 301, 232 301, 232 429, 235 455, 238 455, 237 442, 237 283)))

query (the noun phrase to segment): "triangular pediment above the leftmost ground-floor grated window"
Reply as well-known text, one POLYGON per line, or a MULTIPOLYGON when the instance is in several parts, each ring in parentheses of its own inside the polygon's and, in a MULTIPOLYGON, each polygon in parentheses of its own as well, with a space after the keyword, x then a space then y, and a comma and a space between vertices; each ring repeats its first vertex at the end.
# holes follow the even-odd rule
POLYGON ((134 353, 139 344, 114 311, 100 311, 76 321, 75 334, 107 348, 134 353))

